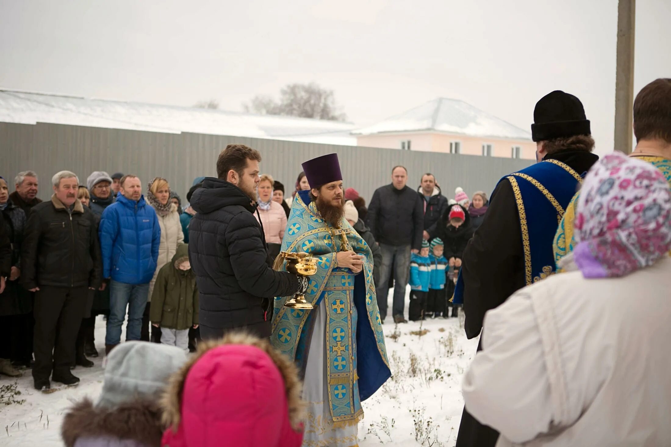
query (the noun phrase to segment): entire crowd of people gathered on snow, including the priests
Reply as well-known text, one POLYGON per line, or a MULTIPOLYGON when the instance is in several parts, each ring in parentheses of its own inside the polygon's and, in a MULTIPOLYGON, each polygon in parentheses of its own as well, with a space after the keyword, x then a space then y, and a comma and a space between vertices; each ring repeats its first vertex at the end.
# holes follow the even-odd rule
POLYGON ((391 375, 393 287, 396 324, 406 305, 421 320, 463 304, 480 336, 458 446, 667 445, 670 107, 671 80, 648 84, 635 150, 600 160, 579 99, 546 95, 538 163, 501 179, 491 204, 462 188, 448 200, 433 174, 413 190, 396 166, 366 206, 335 154, 303 163, 285 196, 237 144, 184 209, 160 177, 144 189, 61 171, 45 202, 35 172, 11 194, 0 177, 0 373, 76 385, 104 315, 103 392, 66 414, 66 446, 353 445, 361 402, 391 375), (309 253, 317 273, 292 273, 280 251, 309 253), (313 310, 288 310, 294 295, 313 310))

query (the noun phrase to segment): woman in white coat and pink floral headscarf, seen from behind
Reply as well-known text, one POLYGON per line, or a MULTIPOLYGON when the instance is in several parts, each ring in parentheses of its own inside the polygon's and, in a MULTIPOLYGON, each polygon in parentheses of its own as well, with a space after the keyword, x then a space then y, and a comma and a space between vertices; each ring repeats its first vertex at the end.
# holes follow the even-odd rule
POLYGON ((487 312, 466 408, 498 447, 671 446, 671 191, 620 153, 592 167, 567 273, 487 312))

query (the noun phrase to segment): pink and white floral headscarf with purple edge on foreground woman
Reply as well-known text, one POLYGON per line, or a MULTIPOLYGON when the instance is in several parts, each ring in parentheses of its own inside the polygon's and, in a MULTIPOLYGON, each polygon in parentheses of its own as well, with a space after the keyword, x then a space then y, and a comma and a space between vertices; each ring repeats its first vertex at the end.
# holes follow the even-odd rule
POLYGON ((671 191, 651 164, 615 152, 584 180, 576 210, 574 261, 586 278, 621 277, 671 247, 671 191))

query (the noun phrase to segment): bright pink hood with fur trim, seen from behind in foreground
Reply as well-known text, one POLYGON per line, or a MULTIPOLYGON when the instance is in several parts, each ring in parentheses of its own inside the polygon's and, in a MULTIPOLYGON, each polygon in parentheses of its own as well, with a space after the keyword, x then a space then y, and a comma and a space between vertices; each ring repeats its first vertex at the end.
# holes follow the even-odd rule
POLYGON ((225 436, 236 446, 256 437, 268 447, 300 446, 300 396, 296 366, 268 340, 233 333, 203 341, 197 354, 172 375, 161 399, 168 426, 163 444, 207 447, 217 439, 208 436, 225 436))

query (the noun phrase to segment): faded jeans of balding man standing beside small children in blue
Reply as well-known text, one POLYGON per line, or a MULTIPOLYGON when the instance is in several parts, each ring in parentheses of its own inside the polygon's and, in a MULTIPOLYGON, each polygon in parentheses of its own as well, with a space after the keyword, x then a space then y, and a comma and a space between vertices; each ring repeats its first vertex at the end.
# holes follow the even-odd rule
POLYGON ((403 316, 405 309, 405 286, 410 274, 410 245, 380 244, 382 265, 380 265, 380 282, 376 289, 380 318, 386 318, 387 295, 389 294, 389 277, 394 272, 394 303, 393 316, 403 316))

